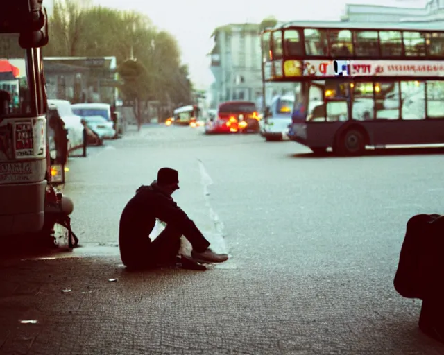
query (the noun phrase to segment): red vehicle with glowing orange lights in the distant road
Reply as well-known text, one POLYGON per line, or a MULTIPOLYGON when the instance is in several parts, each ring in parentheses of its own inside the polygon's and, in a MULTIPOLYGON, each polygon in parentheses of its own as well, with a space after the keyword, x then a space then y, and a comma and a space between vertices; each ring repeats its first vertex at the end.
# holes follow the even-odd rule
POLYGON ((205 133, 259 132, 259 116, 251 101, 221 103, 214 116, 205 122, 205 133))

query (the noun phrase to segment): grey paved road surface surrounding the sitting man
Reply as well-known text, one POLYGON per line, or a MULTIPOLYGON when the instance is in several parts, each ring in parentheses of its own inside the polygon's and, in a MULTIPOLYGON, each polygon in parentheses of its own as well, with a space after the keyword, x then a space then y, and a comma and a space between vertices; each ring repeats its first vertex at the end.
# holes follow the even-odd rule
POLYGON ((158 126, 91 148, 65 188, 82 247, 0 270, 0 354, 444 354, 393 288, 407 220, 442 213, 442 153, 314 157, 158 126), (227 263, 122 268, 119 215, 162 166, 227 263))

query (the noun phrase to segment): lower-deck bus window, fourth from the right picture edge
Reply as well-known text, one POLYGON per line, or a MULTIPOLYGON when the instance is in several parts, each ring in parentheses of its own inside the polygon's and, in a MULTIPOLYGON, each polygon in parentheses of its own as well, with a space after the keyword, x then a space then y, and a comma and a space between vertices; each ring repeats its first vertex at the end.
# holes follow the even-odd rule
POLYGON ((368 121, 374 118, 373 83, 355 83, 353 86, 352 119, 368 121))

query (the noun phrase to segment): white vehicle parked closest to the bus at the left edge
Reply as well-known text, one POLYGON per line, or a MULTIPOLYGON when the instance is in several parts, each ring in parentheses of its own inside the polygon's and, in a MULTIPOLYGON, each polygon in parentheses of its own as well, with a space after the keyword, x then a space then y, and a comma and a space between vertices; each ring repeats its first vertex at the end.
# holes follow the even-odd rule
POLYGON ((56 109, 60 118, 65 122, 68 136, 68 153, 83 147, 82 118, 71 110, 71 103, 67 100, 48 100, 49 110, 56 109))

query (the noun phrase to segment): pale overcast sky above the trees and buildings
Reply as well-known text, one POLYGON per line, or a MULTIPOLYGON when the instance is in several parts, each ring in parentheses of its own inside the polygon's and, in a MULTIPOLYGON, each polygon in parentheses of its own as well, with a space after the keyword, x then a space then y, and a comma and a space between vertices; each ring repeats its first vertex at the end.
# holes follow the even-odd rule
MULTIPOLYGON (((230 23, 260 22, 269 15, 280 21, 339 20, 345 3, 366 3, 386 6, 424 6, 424 0, 94 0, 96 4, 144 12, 159 28, 172 33, 180 44, 182 61, 189 65, 191 77, 198 87, 206 88, 213 81, 208 68, 210 40, 217 26, 230 23)), ((136 53, 137 55, 137 53, 136 53)))

